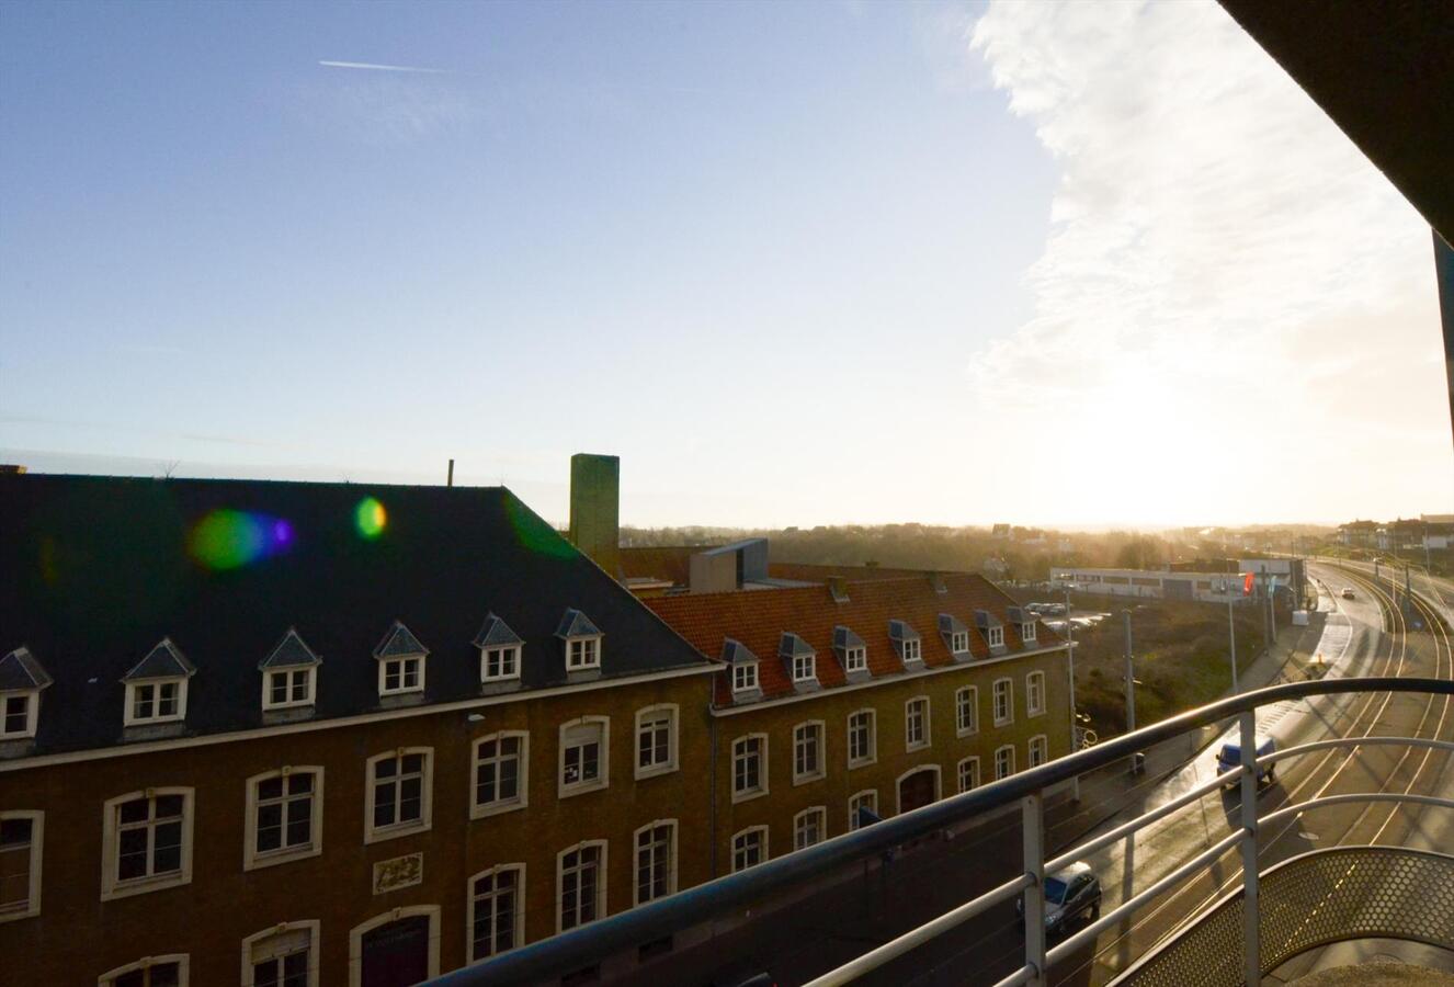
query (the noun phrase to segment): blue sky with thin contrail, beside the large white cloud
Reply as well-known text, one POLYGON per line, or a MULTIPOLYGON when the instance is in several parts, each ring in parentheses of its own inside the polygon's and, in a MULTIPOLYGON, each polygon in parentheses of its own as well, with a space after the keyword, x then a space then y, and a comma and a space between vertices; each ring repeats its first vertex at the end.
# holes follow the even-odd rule
MULTIPOLYGON (((1159 315, 1067 317, 1105 317, 1105 275, 1075 243, 1108 243, 1124 217, 1080 228, 1117 198, 1085 204, 1115 148, 1076 137, 1104 108, 1064 80, 1095 92, 1085 73, 1102 71, 1130 99, 1170 70, 1075 63, 1047 84, 1027 65, 1083 58, 1066 52, 1106 20, 1121 41, 1166 31, 1121 7, 1076 23, 871 3, 6 4, 0 451, 42 470, 358 481, 436 481, 454 456, 462 481, 503 480, 554 519, 569 455, 615 452, 624 519, 657 525, 1447 507, 1437 401, 1407 449, 1354 439, 1423 462, 1418 483, 1326 503, 1306 475, 1271 503, 1086 503, 1047 470, 1047 443, 1105 458, 1092 436, 1114 430, 1085 432, 1098 416, 1144 419, 1092 353, 1159 381, 1156 419, 1200 407, 1166 385, 1179 358, 1144 342, 1159 315)), ((1226 35, 1217 15, 1205 31, 1226 35)), ((1396 195, 1371 202, 1413 241, 1396 195)), ((1153 209, 1128 249, 1182 212, 1153 209)), ((1306 221, 1294 206, 1291 228, 1306 221)), ((1147 263, 1121 260, 1118 278, 1147 263)), ((1109 310, 1197 305, 1131 281, 1117 291, 1141 295, 1109 310)), ((1386 285, 1320 317, 1422 327, 1421 292, 1386 285)), ((1086 468, 1080 483, 1115 483, 1086 468)))

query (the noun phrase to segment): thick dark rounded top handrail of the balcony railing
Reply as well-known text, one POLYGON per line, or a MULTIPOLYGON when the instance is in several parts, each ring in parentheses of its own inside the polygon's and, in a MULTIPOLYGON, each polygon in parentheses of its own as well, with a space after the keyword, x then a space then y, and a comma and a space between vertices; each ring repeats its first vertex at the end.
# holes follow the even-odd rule
POLYGON ((798 881, 811 879, 848 863, 875 858, 903 843, 1053 788, 1098 768, 1128 759, 1165 740, 1211 725, 1259 706, 1314 695, 1351 692, 1425 692, 1454 695, 1454 680, 1373 676, 1317 679, 1266 686, 1188 709, 1128 734, 1102 740, 1095 747, 1059 757, 973 791, 951 795, 910 813, 885 818, 852 833, 766 861, 679 891, 630 911, 599 919, 550 939, 542 939, 491 959, 462 967, 430 981, 438 987, 537 983, 589 967, 608 955, 656 942, 737 906, 759 901, 798 881))

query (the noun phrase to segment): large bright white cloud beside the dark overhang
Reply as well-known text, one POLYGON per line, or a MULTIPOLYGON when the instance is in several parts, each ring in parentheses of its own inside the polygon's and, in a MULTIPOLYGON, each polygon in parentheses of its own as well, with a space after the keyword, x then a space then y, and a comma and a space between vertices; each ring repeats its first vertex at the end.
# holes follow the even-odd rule
POLYGON ((1220 7, 993 3, 968 44, 1061 169, 1034 315, 971 362, 1003 432, 1069 414, 1258 478, 1166 520, 1454 503, 1428 227, 1220 7), (1380 480, 1332 483, 1349 458, 1380 480))

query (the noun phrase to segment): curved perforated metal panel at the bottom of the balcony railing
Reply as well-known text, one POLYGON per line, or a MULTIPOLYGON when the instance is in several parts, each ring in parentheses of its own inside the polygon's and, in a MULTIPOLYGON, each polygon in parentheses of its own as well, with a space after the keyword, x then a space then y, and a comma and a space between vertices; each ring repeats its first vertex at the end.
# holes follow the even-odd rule
MULTIPOLYGON (((1394 846, 1303 853, 1261 881, 1261 968, 1348 939, 1386 938, 1454 949, 1454 856, 1394 846)), ((1242 893, 1213 906, 1115 981, 1125 987, 1242 984, 1242 893)))

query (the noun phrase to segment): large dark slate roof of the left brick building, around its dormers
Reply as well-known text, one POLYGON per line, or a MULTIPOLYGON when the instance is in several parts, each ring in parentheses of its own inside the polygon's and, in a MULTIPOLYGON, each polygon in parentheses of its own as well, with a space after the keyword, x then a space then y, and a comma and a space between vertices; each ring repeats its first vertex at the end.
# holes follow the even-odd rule
MULTIPOLYGON (((603 679, 708 663, 502 487, 0 474, 0 651, 25 644, 55 679, 38 754, 118 743, 118 680, 164 637, 196 664, 186 733, 205 734, 263 725, 257 660, 289 627, 329 657, 326 720, 385 705, 372 653, 395 618, 433 648, 423 702, 439 704, 481 695, 487 613, 544 641, 566 608, 611 635, 603 679), (365 497, 387 512, 377 538, 355 525, 365 497), (284 536, 250 564, 204 565, 189 549, 204 554, 198 522, 218 510, 284 536)), ((522 692, 569 683, 561 648, 522 658, 522 692)))

